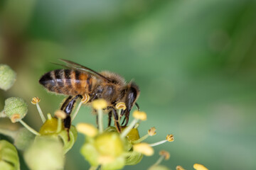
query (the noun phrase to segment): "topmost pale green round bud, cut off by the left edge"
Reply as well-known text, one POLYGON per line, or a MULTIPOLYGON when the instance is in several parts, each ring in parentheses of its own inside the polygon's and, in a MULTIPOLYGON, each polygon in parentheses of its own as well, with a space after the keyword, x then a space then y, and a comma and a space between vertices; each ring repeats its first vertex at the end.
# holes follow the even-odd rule
POLYGON ((6 64, 0 64, 0 89, 8 90, 16 81, 16 73, 6 64))

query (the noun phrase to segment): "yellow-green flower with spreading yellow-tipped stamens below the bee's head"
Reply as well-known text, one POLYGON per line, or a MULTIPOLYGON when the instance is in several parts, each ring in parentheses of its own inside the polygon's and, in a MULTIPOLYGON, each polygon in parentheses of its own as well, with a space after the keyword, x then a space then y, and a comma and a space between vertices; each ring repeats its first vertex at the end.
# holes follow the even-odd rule
MULTIPOLYGON (((103 99, 92 102, 92 107, 97 111, 97 122, 99 128, 87 123, 79 123, 76 128, 78 132, 85 135, 85 143, 82 145, 81 153, 92 166, 91 169, 100 167, 102 170, 122 169, 125 165, 138 164, 143 155, 154 154, 152 147, 164 142, 174 141, 173 135, 167 135, 166 140, 148 144, 143 142, 147 137, 156 135, 156 128, 151 128, 143 137, 139 137, 139 122, 146 120, 146 113, 134 111, 134 120, 127 126, 122 127, 122 132, 117 132, 115 127, 104 129, 102 114, 107 107, 103 99)), ((121 113, 126 109, 124 103, 117 103, 117 112, 121 113)), ((118 120, 120 120, 120 114, 118 120)))

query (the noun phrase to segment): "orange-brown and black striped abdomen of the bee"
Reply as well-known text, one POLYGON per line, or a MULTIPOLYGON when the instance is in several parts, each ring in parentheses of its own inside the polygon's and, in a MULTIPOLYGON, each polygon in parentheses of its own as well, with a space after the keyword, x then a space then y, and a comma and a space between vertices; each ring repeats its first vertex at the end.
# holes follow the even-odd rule
POLYGON ((39 83, 57 94, 75 96, 89 94, 92 91, 92 79, 95 78, 86 72, 73 69, 55 69, 44 74, 39 83))

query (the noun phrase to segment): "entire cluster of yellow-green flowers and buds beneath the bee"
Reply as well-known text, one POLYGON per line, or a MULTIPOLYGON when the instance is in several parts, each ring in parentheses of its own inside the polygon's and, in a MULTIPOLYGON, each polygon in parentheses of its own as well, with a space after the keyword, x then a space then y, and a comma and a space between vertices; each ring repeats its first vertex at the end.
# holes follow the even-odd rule
MULTIPOLYGON (((0 89, 10 89, 16 79, 16 73, 8 66, 0 64, 0 89)), ((90 163, 90 170, 114 170, 122 169, 126 165, 138 164, 144 156, 154 154, 153 147, 161 145, 164 142, 173 142, 174 135, 166 135, 165 140, 148 144, 144 142, 147 137, 156 135, 156 128, 150 128, 146 135, 139 136, 139 124, 146 120, 146 113, 134 111, 133 120, 127 127, 121 127, 122 132, 118 132, 116 127, 107 127, 103 125, 103 113, 107 108, 107 102, 98 99, 92 102, 92 107, 97 111, 97 128, 87 123, 71 125, 70 129, 65 129, 63 120, 66 113, 55 111, 54 116, 50 113, 47 117, 39 106, 40 98, 32 98, 31 103, 36 105, 38 113, 42 120, 40 130, 33 130, 22 119, 28 113, 28 104, 23 98, 7 98, 4 110, 0 112, 0 118, 7 117, 12 123, 21 123, 24 128, 16 131, 0 128, 0 133, 8 135, 14 139, 14 145, 6 140, 0 140, 0 169, 20 169, 17 149, 23 150, 23 157, 29 169, 64 169, 65 153, 70 150, 77 139, 77 130, 85 135, 85 142, 80 152, 82 156, 90 163), (16 149, 17 148, 17 149, 16 149)), ((74 120, 78 114, 80 106, 90 101, 90 96, 85 94, 76 107, 71 120, 74 120)), ((117 103, 115 106, 119 118, 126 108, 124 103, 117 103)), ((120 123, 119 123, 120 124, 120 123)), ((169 170, 168 167, 160 163, 164 159, 169 159, 169 152, 159 152, 160 157, 155 164, 148 170, 169 170)), ((208 170, 201 164, 194 164, 196 170, 208 170)), ((182 166, 176 166, 176 170, 183 170, 182 166)))

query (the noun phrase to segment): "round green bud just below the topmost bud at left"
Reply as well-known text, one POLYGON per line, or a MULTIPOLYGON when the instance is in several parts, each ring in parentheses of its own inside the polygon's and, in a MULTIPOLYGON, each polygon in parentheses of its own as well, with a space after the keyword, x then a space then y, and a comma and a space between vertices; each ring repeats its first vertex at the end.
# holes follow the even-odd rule
POLYGON ((4 113, 11 118, 12 123, 16 123, 28 113, 28 104, 23 98, 7 98, 4 105, 4 113))

